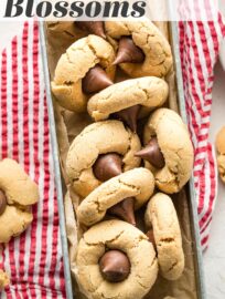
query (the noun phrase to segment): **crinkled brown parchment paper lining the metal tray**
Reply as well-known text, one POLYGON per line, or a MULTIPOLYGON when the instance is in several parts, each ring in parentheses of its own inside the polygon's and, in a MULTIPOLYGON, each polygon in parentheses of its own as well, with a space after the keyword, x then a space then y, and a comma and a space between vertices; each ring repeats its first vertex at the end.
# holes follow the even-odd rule
MULTIPOLYGON (((165 22, 156 22, 158 28, 163 34, 169 38, 168 24, 165 22)), ((47 39, 47 53, 49 53, 49 69, 51 79, 54 78, 55 65, 66 48, 75 40, 84 37, 84 32, 75 30, 73 22, 49 22, 46 25, 46 39, 47 39)), ((117 81, 121 81, 125 75, 118 72, 117 81)), ((172 69, 165 78, 170 85, 170 95, 168 100, 168 106, 174 111, 178 111, 176 101, 176 86, 175 86, 175 73, 172 69)), ((53 105, 55 111, 56 134, 60 148, 60 161, 62 167, 63 178, 67 188, 65 195, 65 216, 66 216, 66 229, 69 247, 69 259, 72 276, 74 278, 74 293, 77 299, 86 298, 78 289, 75 280, 77 271, 75 256, 78 239, 81 238, 85 228, 82 228, 75 219, 75 210, 78 206, 79 198, 73 190, 69 189, 69 183, 65 172, 65 161, 71 142, 79 132, 89 123, 90 117, 84 114, 76 114, 62 109, 53 96, 53 105)), ((183 237, 183 248, 185 254, 185 270, 182 277, 176 281, 168 281, 159 276, 156 285, 150 292, 144 297, 147 299, 163 299, 167 296, 171 296, 176 299, 195 299, 197 298, 196 291, 196 275, 194 268, 194 251, 192 247, 191 236, 191 221, 189 213, 189 199, 186 192, 183 189, 180 194, 173 196, 174 205, 178 210, 179 220, 183 237)))

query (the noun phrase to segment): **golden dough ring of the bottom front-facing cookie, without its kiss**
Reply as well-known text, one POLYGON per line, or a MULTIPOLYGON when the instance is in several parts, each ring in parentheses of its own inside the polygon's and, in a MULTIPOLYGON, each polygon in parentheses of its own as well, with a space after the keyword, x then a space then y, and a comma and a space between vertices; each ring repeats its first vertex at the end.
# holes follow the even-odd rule
POLYGON ((120 220, 93 226, 79 241, 77 281, 87 298, 137 299, 151 289, 158 275, 158 261, 151 243, 139 229, 120 220), (125 252, 131 265, 130 275, 121 282, 106 281, 98 261, 106 249, 125 252))

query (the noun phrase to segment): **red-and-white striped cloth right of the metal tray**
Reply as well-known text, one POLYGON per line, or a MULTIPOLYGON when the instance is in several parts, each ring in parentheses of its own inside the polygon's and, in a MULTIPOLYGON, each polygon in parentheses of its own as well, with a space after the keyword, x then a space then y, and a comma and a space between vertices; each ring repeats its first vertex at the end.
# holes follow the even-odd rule
POLYGON ((204 250, 208 245, 217 194, 216 158, 214 147, 208 142, 213 69, 217 61, 221 39, 225 37, 225 24, 219 14, 217 22, 180 22, 179 29, 185 105, 195 151, 195 198, 204 250))

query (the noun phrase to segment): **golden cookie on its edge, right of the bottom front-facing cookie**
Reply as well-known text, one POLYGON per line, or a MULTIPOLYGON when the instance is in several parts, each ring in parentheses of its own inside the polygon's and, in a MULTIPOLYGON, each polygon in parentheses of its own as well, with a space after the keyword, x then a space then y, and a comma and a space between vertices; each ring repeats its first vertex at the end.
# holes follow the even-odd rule
POLYGON ((162 193, 149 202, 144 215, 147 227, 153 228, 161 275, 176 280, 184 270, 181 229, 172 199, 162 193))

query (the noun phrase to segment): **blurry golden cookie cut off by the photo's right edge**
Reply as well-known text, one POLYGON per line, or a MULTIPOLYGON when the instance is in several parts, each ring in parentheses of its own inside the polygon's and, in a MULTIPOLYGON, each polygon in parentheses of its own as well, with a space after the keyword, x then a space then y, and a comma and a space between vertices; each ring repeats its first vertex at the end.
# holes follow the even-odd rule
POLYGON ((216 136, 217 165, 221 179, 225 183, 225 126, 223 126, 216 136))

